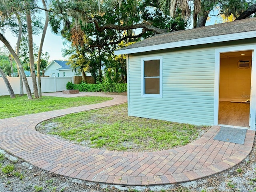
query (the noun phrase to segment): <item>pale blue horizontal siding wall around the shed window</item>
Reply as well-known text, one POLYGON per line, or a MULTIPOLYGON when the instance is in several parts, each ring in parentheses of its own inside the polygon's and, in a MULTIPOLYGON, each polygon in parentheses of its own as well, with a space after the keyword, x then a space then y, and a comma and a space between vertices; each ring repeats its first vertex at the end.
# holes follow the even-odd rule
POLYGON ((212 125, 215 49, 129 56, 129 115, 212 125), (141 96, 140 59, 163 56, 163 98, 141 96))

